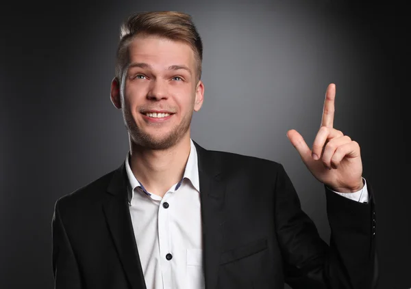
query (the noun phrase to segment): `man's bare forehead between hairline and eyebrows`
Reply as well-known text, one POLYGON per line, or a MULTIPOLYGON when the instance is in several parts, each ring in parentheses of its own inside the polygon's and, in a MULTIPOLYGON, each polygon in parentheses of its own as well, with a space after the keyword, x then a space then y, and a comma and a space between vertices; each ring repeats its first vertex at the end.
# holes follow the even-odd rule
POLYGON ((129 63, 145 62, 151 66, 195 66, 190 45, 160 36, 137 36, 128 47, 129 63))

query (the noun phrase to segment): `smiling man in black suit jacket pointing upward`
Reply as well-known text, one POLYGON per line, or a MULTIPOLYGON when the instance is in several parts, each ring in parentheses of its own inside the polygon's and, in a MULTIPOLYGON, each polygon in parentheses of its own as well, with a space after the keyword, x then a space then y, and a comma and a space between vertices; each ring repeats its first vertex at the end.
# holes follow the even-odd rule
POLYGON ((335 85, 312 150, 287 133, 325 184, 328 246, 281 164, 190 139, 201 60, 187 14, 134 14, 123 24, 111 100, 130 150, 118 169, 56 202, 55 288, 372 288, 373 193, 358 143, 333 128, 335 85))

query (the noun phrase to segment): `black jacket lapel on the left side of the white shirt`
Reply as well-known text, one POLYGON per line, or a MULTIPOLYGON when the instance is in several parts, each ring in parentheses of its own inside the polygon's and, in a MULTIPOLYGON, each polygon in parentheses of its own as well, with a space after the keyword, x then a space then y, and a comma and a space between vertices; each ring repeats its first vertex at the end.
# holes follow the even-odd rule
POLYGON ((133 289, 146 288, 127 201, 125 163, 114 172, 103 204, 105 219, 127 279, 133 289))

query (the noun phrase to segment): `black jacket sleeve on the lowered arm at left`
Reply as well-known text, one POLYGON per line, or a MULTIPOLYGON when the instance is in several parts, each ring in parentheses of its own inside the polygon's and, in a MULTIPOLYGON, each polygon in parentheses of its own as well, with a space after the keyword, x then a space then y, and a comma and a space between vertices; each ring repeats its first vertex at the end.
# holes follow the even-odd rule
POLYGON ((81 289, 79 269, 62 222, 59 202, 55 203, 52 219, 53 275, 55 289, 81 289))

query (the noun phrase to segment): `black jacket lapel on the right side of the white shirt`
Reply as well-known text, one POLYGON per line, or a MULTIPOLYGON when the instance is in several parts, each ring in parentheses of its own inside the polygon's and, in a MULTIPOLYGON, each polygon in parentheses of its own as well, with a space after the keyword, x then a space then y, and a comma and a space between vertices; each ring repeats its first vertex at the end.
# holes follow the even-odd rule
POLYGON ((204 277, 206 289, 214 289, 223 243, 225 183, 221 182, 221 160, 213 158, 197 143, 195 146, 199 166, 204 277))

